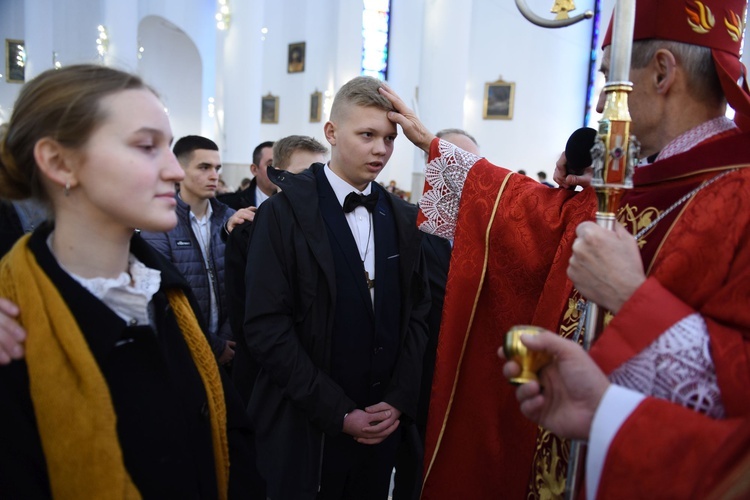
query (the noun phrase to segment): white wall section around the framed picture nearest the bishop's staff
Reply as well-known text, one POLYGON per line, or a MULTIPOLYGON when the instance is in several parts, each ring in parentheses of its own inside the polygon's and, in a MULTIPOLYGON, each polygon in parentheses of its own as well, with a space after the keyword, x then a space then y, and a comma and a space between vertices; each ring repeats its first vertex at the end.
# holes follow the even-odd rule
MULTIPOLYGON (((579 11, 587 4, 593 2, 576 2, 579 11)), ((568 136, 583 126, 592 22, 544 29, 526 21, 513 2, 474 0, 472 26, 466 130, 493 163, 551 177, 568 136), (484 84, 500 77, 515 83, 513 117, 485 120, 484 84)))

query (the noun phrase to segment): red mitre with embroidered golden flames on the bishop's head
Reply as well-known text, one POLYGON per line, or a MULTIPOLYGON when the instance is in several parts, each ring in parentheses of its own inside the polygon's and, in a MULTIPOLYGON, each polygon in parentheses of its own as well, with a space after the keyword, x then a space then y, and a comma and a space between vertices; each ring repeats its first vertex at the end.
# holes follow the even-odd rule
MULTIPOLYGON (((740 62, 747 0, 637 0, 633 40, 657 38, 708 47, 735 122, 750 130, 750 89, 740 62)), ((602 48, 612 43, 612 21, 602 48)))

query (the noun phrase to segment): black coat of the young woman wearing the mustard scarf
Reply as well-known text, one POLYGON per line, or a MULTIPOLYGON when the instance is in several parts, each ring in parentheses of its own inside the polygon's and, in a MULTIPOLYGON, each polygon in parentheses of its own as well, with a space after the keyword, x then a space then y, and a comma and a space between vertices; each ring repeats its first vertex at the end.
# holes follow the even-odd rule
MULTIPOLYGON (((152 300, 158 334, 149 325, 128 326, 70 277, 47 246, 50 226, 35 231, 29 248, 76 317, 107 382, 127 468, 144 498, 217 496, 206 393, 165 290, 184 278, 139 236, 131 252, 161 271, 152 300)), ((219 370, 223 372, 223 370, 219 370)), ((244 498, 249 469, 249 423, 231 383, 224 382, 230 453, 230 496, 244 498)), ((49 480, 24 360, 0 366, 0 497, 49 498, 49 480)), ((65 418, 60 415, 60 418, 65 418)))

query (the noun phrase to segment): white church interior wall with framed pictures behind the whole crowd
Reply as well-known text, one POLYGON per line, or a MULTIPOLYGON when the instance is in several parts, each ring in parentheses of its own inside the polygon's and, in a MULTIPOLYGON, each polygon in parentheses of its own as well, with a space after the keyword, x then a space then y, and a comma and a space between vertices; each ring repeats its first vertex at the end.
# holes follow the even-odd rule
MULTIPOLYGON (((104 23, 108 6, 111 10, 111 2, 116 1, 51 2, 52 46, 62 64, 99 60, 96 27, 104 23)), ((450 23, 442 23, 440 31, 434 32, 438 28, 426 21, 428 14, 451 1, 392 0, 390 84, 410 106, 429 117, 430 128, 464 128, 494 163, 523 168, 532 175, 538 170, 551 175, 568 136, 583 125, 592 22, 542 29, 523 19, 513 2, 471 0, 462 3, 471 9, 469 29, 452 31, 450 23), (455 39, 468 51, 445 57, 425 50, 425 43, 429 46, 438 37, 445 37, 447 43, 455 39), (445 98, 430 102, 428 97, 449 81, 453 68, 467 68, 453 73, 465 80, 459 82, 463 93, 451 93, 450 102, 445 98), (501 76, 515 83, 513 117, 483 119, 485 83, 501 76)), ((546 3, 551 2, 529 3, 539 15, 553 16, 539 10, 548 9, 546 3)), ((28 19, 32 4, 38 8, 38 2, 31 0, 0 2, 0 38, 34 36, 29 33, 34 20, 28 19)), ((576 4, 581 12, 592 8, 594 0, 576 4)), ((139 72, 157 88, 176 136, 198 133, 220 144, 227 182, 237 185, 248 176, 252 149, 261 141, 305 134, 324 142, 323 124, 336 89, 359 73, 362 4, 229 0, 229 5, 232 24, 228 31, 219 31, 214 19, 217 3, 212 0, 139 0, 132 7, 137 22, 122 21, 113 31, 135 30, 145 49, 143 58, 134 64, 136 48, 118 46, 117 40, 110 43, 117 48, 116 54, 133 50, 133 57, 115 58, 111 63, 139 72), (288 73, 287 49, 295 42, 306 43, 305 69, 288 73), (315 91, 323 94, 320 122, 309 119, 310 95, 315 91), (279 97, 279 120, 261 124, 260 100, 269 93, 279 97)), ((613 5, 614 0, 603 1, 603 23, 613 5)), ((600 29, 603 35, 606 26, 600 29)), ((51 54, 29 53, 28 57, 33 58, 35 73, 52 65, 51 54)), ((4 65, 0 71, 4 72, 4 65)), ((5 78, 0 81, 0 121, 9 119, 20 87, 5 78)), ((421 152, 399 138, 379 180, 393 179, 400 187, 419 192, 423 161, 421 152)))

